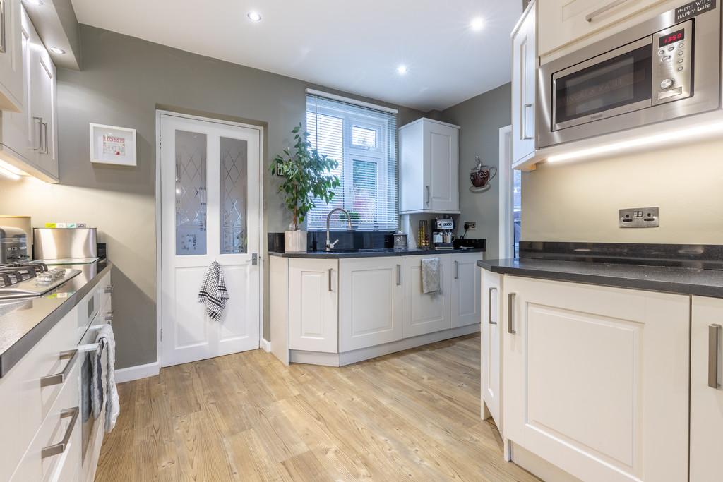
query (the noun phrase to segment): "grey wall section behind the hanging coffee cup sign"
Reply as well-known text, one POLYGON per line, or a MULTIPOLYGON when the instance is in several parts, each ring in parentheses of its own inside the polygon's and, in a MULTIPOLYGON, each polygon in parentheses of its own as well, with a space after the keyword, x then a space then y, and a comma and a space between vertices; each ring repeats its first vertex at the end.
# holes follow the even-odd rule
POLYGON ((499 179, 482 193, 469 190, 472 185, 469 172, 474 168, 475 155, 482 162, 497 166, 500 163, 500 127, 512 122, 511 87, 505 84, 465 100, 441 113, 441 120, 457 124, 459 132, 459 202, 462 212, 460 226, 464 221, 476 221, 477 230, 470 231, 470 238, 487 238, 485 257, 497 258, 499 253, 499 179))

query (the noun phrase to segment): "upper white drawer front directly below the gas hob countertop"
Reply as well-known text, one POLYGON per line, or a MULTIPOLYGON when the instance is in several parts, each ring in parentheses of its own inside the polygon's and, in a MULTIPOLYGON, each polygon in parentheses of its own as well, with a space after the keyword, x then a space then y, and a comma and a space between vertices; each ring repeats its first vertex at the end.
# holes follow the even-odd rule
POLYGON ((76 348, 76 320, 77 311, 73 309, 0 379, 0 427, 12 434, 0 439, 0 481, 9 478, 38 427, 49 416, 61 390, 72 382, 72 377, 64 376, 62 382, 58 378, 41 386, 43 377, 77 370, 79 356, 61 358, 61 353, 76 348))

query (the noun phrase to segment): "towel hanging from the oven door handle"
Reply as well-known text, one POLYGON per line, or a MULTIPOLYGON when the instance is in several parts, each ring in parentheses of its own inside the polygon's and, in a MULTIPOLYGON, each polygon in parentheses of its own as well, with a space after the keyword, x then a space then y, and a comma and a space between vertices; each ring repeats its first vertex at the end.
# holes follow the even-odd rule
POLYGON ((95 337, 95 343, 98 343, 98 349, 95 350, 93 356, 93 417, 100 415, 103 409, 103 393, 100 387, 103 387, 103 366, 100 356, 103 349, 107 350, 106 363, 106 421, 105 430, 110 432, 116 426, 116 420, 121 413, 121 405, 118 400, 118 389, 116 387, 116 337, 113 334, 113 327, 110 324, 104 324, 98 330, 98 336, 95 337))

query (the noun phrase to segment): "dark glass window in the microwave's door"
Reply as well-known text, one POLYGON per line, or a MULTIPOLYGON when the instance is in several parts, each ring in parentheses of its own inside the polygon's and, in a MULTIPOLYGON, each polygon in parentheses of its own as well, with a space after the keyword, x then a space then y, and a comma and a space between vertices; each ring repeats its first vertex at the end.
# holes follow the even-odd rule
POLYGON ((576 119, 581 122, 574 124, 581 124, 595 117, 581 118, 649 101, 651 57, 651 46, 643 46, 556 79, 555 124, 576 119))

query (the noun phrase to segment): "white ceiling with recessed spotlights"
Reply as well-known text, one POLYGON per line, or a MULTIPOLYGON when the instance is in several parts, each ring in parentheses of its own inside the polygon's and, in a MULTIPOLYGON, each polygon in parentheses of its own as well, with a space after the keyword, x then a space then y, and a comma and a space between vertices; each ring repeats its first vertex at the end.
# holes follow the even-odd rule
POLYGON ((509 82, 510 31, 522 13, 519 0, 72 3, 81 23, 422 111, 509 82), (247 19, 251 10, 261 22, 247 19))

